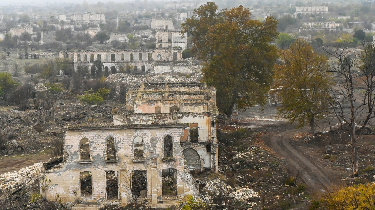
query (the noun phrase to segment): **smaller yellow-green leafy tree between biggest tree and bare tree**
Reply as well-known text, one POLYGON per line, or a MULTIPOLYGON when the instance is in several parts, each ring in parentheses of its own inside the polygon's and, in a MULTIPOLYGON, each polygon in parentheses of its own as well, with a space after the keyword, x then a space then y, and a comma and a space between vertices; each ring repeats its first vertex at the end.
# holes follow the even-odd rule
POLYGON ((282 100, 279 115, 290 122, 299 121, 299 127, 309 122, 315 136, 315 121, 324 117, 332 75, 327 58, 314 52, 306 41, 297 39, 288 50, 279 53, 275 69, 275 86, 282 100))

